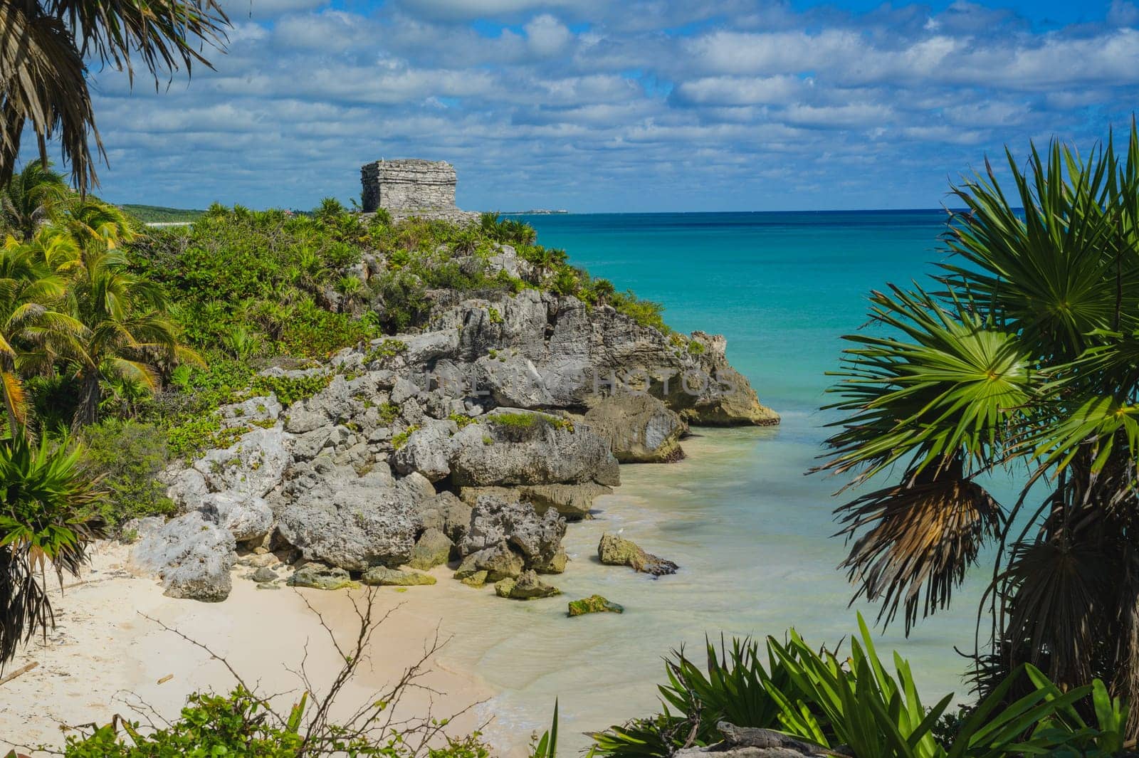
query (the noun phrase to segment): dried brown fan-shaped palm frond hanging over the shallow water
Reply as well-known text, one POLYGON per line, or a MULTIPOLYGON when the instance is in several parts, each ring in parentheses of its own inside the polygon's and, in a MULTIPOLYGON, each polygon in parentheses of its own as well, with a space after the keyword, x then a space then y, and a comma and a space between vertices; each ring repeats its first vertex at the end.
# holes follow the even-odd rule
MULTIPOLYGON (((976 483, 943 472, 868 493, 838 509, 854 541, 842 568, 859 595, 882 601, 878 620, 903 611, 906 633, 921 616, 949 605, 982 545, 997 538, 1000 505, 976 483)), ((855 600, 859 595, 855 595, 855 600)))

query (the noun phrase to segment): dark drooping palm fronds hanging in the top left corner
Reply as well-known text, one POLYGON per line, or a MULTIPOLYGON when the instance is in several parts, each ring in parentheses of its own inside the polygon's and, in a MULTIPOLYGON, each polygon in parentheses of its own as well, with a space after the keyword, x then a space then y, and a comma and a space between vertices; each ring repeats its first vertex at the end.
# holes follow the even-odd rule
POLYGON ((97 182, 89 140, 106 154, 95 125, 88 64, 155 80, 179 66, 210 65, 202 43, 221 49, 229 24, 218 0, 6 0, 0 2, 0 186, 13 176, 31 126, 47 166, 58 140, 80 191, 97 182))

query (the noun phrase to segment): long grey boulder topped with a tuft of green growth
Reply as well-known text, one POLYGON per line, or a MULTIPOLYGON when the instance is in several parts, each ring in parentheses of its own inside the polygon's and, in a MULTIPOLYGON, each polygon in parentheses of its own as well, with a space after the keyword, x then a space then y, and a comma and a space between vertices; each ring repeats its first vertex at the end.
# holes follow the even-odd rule
POLYGON ((497 409, 453 439, 451 480, 460 486, 621 483, 604 439, 548 413, 497 409))

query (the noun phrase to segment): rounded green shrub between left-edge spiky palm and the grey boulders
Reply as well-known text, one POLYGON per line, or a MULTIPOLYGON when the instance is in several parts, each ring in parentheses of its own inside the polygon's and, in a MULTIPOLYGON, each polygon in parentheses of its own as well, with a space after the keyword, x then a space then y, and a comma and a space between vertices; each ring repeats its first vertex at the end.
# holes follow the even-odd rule
POLYGON ((99 478, 106 497, 89 516, 115 528, 123 521, 173 512, 166 487, 157 476, 170 462, 166 432, 153 423, 105 419, 84 427, 82 465, 87 476, 99 478))

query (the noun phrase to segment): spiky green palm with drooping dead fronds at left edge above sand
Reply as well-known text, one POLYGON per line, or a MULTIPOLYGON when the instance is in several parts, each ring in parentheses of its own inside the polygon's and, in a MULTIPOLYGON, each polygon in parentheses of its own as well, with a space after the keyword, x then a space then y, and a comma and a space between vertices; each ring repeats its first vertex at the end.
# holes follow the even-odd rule
POLYGON ((80 471, 80 455, 66 439, 0 440, 0 666, 55 625, 41 584, 49 565, 60 583, 65 571, 77 576, 87 542, 100 536, 83 517, 101 493, 80 471))

